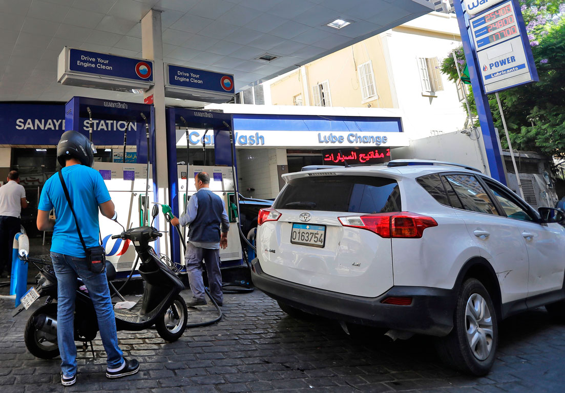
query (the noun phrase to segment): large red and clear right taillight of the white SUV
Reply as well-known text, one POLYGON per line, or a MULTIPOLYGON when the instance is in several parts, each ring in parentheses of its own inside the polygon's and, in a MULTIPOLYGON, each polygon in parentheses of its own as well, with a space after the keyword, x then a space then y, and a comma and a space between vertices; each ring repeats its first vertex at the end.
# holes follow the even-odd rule
POLYGON ((344 227, 361 228, 381 237, 420 238, 429 227, 437 227, 432 217, 401 211, 397 213, 375 213, 338 217, 344 227))

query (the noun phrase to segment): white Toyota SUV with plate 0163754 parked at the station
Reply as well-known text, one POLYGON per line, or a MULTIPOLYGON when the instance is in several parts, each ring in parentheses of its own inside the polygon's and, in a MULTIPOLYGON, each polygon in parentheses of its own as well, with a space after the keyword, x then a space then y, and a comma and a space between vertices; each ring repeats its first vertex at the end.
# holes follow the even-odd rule
POLYGON ((545 305, 565 319, 565 220, 478 170, 438 162, 283 175, 259 213, 253 283, 289 314, 440 336, 484 375, 498 321, 545 305))

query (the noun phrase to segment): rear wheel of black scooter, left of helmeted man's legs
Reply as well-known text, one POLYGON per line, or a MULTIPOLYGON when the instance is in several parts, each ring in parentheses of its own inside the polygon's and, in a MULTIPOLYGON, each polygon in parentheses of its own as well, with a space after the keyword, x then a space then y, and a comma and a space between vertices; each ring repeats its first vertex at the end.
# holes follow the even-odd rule
POLYGON ((59 346, 57 344, 57 336, 38 330, 33 319, 41 314, 51 319, 57 319, 57 305, 56 304, 46 304, 41 306, 32 314, 28 319, 27 325, 25 325, 24 331, 24 342, 25 347, 28 351, 40 359, 53 359, 59 356, 59 346))

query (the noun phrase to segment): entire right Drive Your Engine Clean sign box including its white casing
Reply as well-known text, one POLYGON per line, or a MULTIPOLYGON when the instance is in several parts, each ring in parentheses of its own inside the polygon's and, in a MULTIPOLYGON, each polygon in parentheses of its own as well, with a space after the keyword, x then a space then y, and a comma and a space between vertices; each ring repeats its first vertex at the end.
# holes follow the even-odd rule
POLYGON ((227 102, 235 93, 233 75, 165 64, 165 96, 202 102, 227 102))

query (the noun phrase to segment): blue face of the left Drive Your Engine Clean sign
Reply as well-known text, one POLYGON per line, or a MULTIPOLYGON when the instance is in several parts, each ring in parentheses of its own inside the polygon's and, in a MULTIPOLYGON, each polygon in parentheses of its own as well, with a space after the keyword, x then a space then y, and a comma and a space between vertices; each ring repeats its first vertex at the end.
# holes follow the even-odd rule
POLYGON ((153 62, 116 55, 69 49, 69 70, 85 74, 153 81, 153 62))

